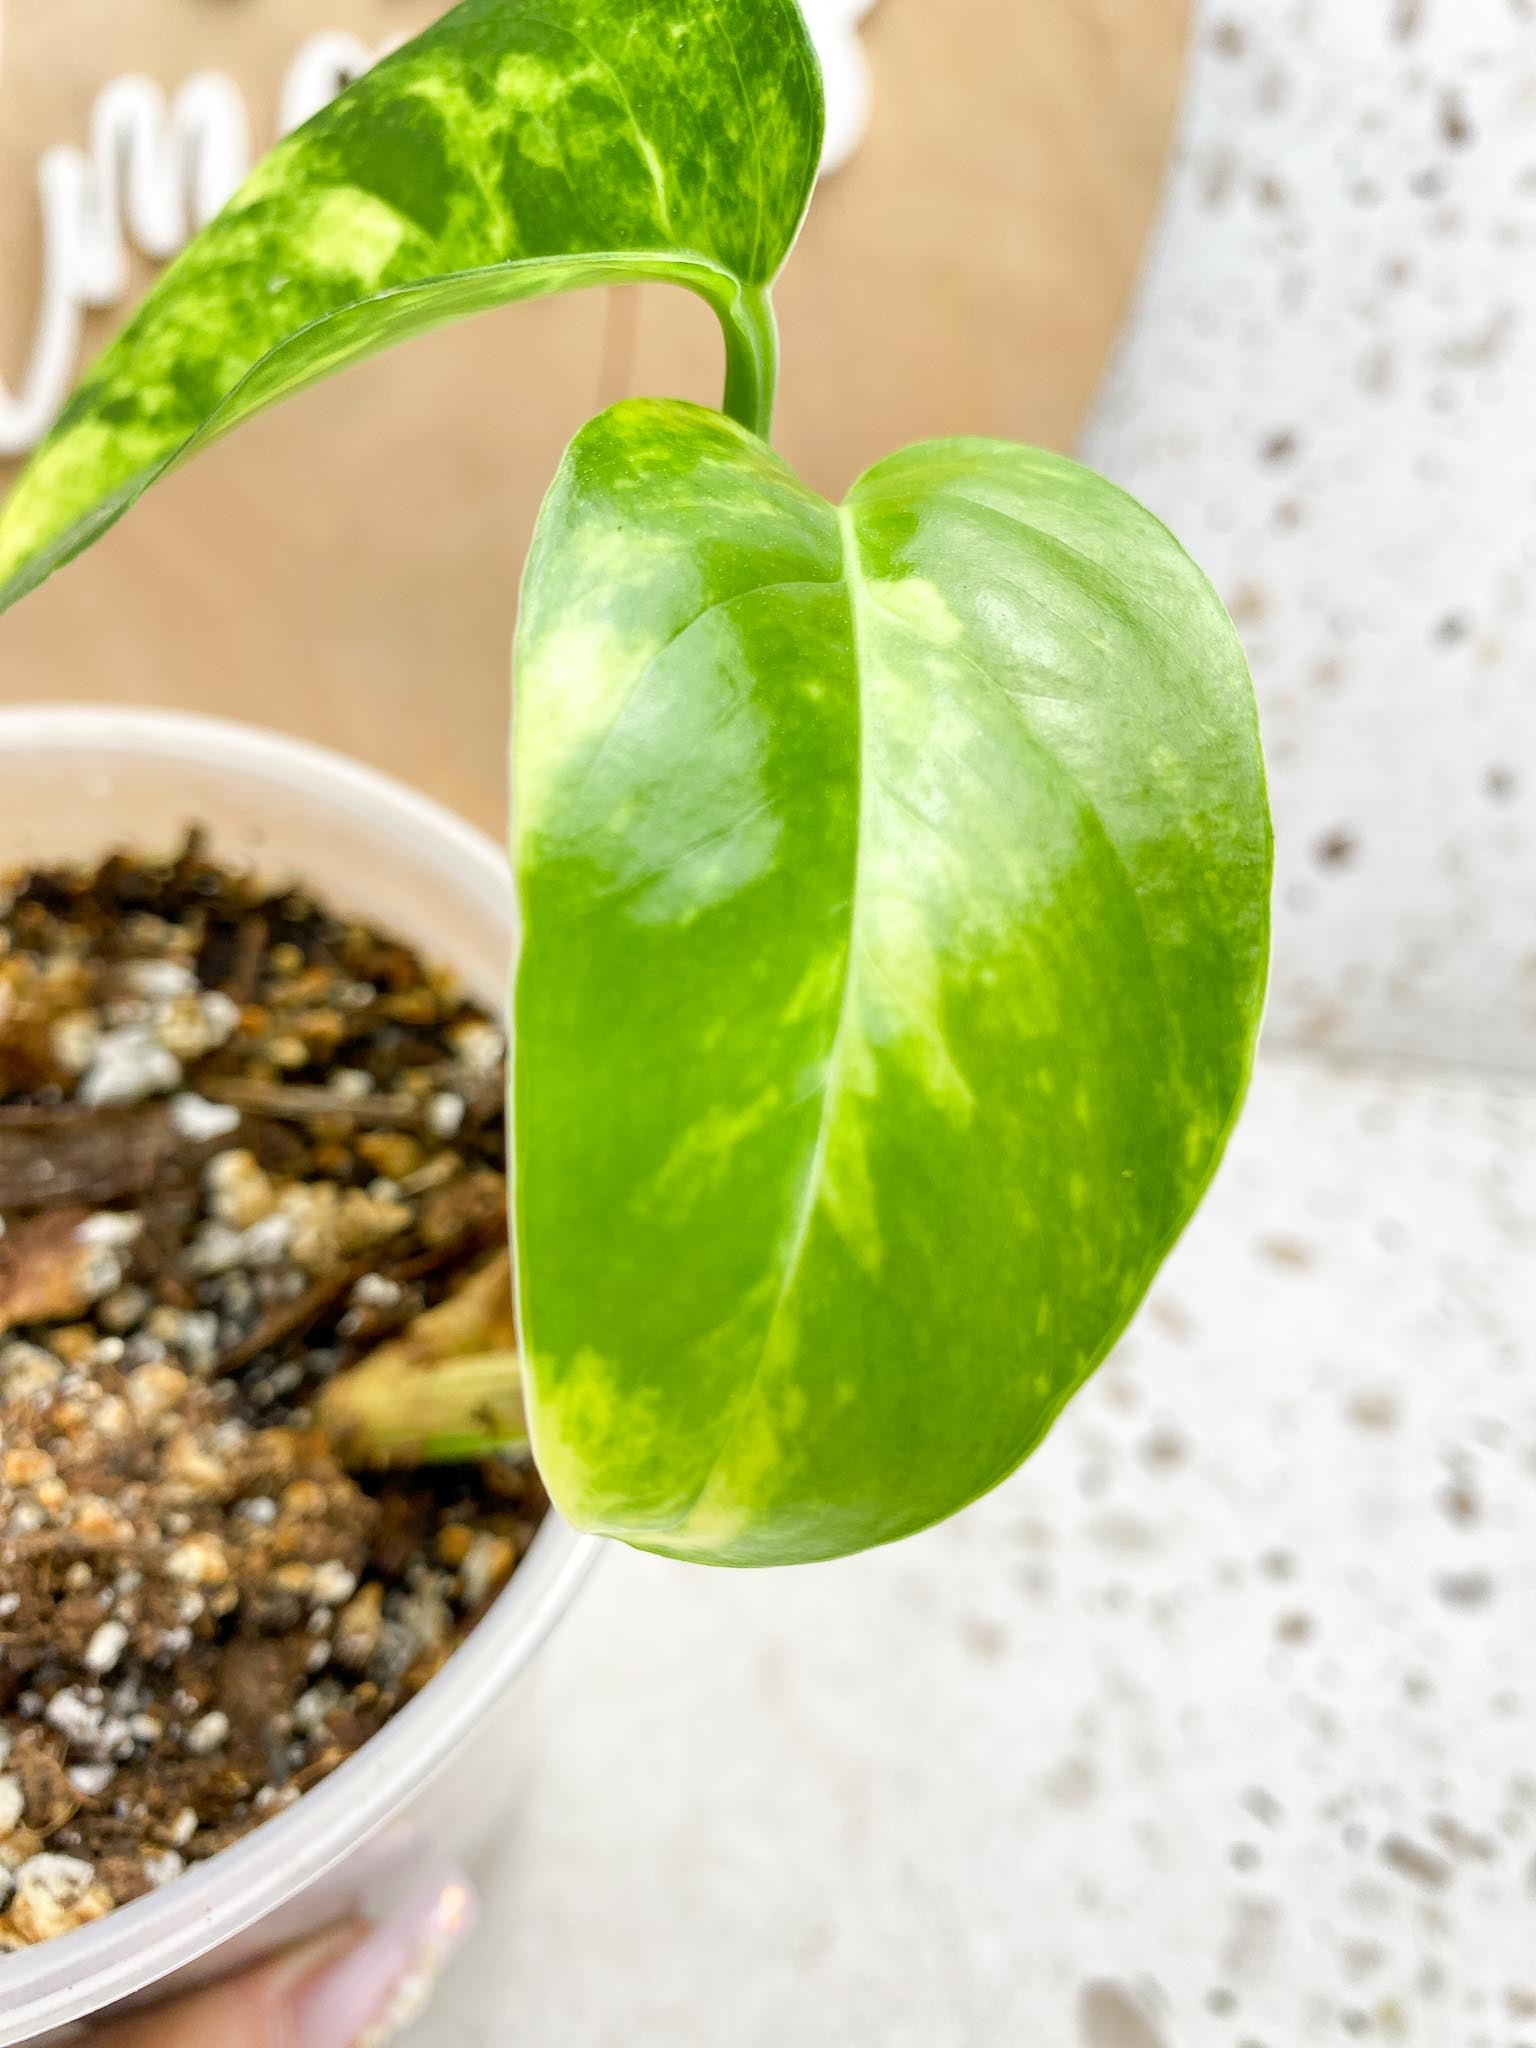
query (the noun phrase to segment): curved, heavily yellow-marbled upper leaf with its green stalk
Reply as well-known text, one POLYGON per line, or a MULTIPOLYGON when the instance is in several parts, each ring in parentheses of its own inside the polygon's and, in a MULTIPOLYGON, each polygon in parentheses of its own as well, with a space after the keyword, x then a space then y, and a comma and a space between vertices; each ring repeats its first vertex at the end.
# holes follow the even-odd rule
POLYGON ((0 610, 215 434, 514 299, 692 287, 727 410, 766 430, 766 291, 821 131, 795 0, 461 0, 289 137, 102 356, 0 518, 0 610))

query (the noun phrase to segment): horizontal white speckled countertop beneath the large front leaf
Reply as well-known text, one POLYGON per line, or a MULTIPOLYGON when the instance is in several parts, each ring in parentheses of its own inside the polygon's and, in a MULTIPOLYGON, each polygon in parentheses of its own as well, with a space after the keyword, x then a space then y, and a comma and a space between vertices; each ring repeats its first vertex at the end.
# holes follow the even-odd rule
POLYGON ((1270 1057, 1022 1475, 612 1552, 412 2048, 1536 2048, 1536 1077, 1270 1057))

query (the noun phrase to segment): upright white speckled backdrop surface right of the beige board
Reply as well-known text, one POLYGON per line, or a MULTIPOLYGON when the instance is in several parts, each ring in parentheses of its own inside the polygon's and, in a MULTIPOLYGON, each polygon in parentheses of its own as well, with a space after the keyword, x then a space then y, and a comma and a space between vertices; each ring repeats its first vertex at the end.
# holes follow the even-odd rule
POLYGON ((1249 643, 1282 1038, 1536 1065, 1536 8, 1210 0, 1087 459, 1249 643))

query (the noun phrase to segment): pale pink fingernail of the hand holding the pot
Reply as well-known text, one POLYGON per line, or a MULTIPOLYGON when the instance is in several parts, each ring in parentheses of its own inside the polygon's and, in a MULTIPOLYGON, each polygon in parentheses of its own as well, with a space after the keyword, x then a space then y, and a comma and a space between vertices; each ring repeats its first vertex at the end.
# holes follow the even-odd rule
POLYGON ((410 1898, 293 1995, 293 2048, 383 2048, 420 2019, 457 1948, 475 1929, 475 1892, 438 1866, 410 1898))

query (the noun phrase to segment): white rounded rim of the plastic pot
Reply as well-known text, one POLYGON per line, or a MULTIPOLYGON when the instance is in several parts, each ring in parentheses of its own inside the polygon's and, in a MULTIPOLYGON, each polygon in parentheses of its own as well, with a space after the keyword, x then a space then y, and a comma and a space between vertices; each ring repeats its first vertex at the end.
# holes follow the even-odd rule
MULTIPOLYGON (((176 711, 113 705, 0 709, 0 766, 25 754, 137 754, 227 768, 389 819, 424 842, 434 866, 512 928, 502 850, 444 805, 393 776, 283 733, 176 711)), ((23 756, 23 760, 18 760, 23 756)), ((453 1757, 524 1669, 575 1597, 600 1544, 553 1509, 475 1632, 395 1718, 287 1812, 182 1872, 164 1890, 31 1950, 0 1956, 0 2048, 88 2019, 199 1962, 305 1892, 453 1757)))

